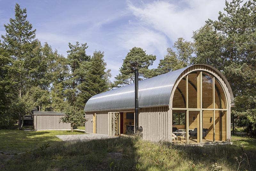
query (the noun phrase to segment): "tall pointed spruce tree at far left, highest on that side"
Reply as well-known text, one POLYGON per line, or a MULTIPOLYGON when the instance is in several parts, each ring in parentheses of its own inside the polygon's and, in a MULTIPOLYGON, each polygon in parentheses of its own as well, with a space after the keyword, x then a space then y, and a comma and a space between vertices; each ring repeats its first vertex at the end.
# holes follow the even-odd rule
MULTIPOLYGON (((27 10, 21 9, 19 4, 15 5, 15 19, 10 19, 10 23, 4 25, 6 34, 2 35, 2 46, 10 55, 9 77, 12 83, 12 106, 23 103, 23 95, 27 96, 28 89, 36 82, 34 74, 36 73, 36 63, 38 58, 36 47, 38 41, 35 40, 36 29, 32 30, 32 24, 27 20, 27 10)), ((29 109, 31 106, 27 106, 29 109)), ((26 103, 24 105, 26 108, 26 103)), ((21 110, 18 114, 22 119, 29 110, 21 110)))

